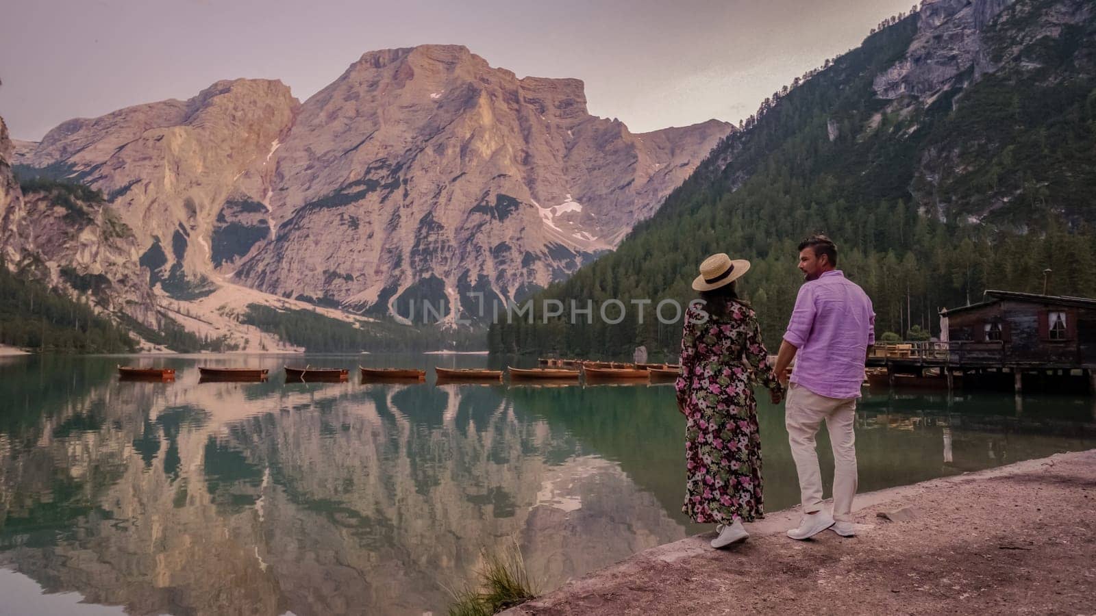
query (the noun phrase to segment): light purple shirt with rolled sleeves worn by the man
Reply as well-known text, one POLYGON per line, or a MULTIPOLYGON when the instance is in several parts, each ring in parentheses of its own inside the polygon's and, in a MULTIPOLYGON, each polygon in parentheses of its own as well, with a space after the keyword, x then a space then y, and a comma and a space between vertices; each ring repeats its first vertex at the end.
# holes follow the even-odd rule
POLYGON ((871 299, 840 270, 825 272, 799 287, 784 340, 799 349, 791 383, 826 398, 859 398, 876 343, 871 299))

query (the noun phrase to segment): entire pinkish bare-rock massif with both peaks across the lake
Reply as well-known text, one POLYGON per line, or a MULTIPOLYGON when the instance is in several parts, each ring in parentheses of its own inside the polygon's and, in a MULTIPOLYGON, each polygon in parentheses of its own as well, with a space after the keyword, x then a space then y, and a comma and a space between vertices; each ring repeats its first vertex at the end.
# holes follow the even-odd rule
POLYGON ((590 115, 579 80, 426 45, 367 53, 304 103, 239 79, 72 119, 15 163, 101 191, 173 300, 239 285, 454 320, 615 248, 730 132, 632 134, 590 115))

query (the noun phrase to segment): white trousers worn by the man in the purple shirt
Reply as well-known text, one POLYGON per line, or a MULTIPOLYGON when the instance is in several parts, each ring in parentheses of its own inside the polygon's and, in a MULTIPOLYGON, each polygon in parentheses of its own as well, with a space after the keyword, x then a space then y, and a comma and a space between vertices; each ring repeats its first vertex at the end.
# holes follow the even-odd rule
POLYGON ((799 474, 799 492, 803 513, 822 510, 822 471, 815 450, 814 435, 825 420, 833 447, 833 517, 852 522, 853 497, 856 495, 856 398, 826 398, 791 385, 785 406, 785 425, 791 457, 799 474))

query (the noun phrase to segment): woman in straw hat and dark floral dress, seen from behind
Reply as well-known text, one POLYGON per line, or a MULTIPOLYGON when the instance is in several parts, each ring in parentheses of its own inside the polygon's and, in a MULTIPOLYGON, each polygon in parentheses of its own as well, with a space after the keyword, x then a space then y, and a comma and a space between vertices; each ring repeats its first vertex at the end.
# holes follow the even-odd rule
POLYGON ((718 524, 713 548, 745 540, 742 523, 765 515, 753 385, 767 387, 774 401, 784 395, 757 316, 734 292, 734 281, 747 270, 749 261, 723 253, 706 259, 693 281, 704 304, 689 306, 682 335, 677 404, 688 420, 682 511, 696 522, 718 524))

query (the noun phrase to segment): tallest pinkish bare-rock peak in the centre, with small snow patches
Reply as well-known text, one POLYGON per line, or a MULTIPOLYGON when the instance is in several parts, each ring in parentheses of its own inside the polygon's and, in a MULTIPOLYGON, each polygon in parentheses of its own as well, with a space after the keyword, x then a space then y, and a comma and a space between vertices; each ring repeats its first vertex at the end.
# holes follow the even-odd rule
MULTIPOLYGON (((355 308, 501 301, 616 246, 728 133, 633 135, 581 81, 517 79, 459 46, 365 54, 276 152, 275 232, 237 272, 355 308)), ((469 310, 469 303, 471 310, 469 310)))

